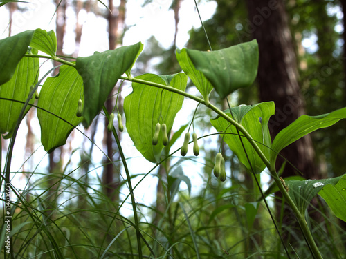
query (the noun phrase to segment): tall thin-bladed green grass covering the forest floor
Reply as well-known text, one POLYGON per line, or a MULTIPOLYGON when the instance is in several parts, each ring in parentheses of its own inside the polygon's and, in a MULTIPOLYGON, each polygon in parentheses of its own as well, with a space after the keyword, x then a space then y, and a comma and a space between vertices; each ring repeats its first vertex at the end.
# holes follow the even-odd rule
MULTIPOLYGON (((191 160, 187 157, 185 162, 191 160)), ((233 172, 231 184, 215 182, 210 175, 212 166, 206 162, 206 172, 201 173, 205 182, 195 195, 187 191, 174 195, 163 182, 163 213, 156 204, 111 201, 104 194, 100 178, 84 180, 95 169, 83 171, 83 162, 64 173, 26 172, 25 188, 12 189, 17 196, 12 200, 13 256, 138 258, 140 250, 142 258, 286 258, 264 204, 260 203, 258 211, 248 205, 255 202, 257 193, 237 179, 237 172, 233 172), (54 186, 48 185, 51 182, 54 186), (128 205, 136 206, 138 211, 140 248, 134 217, 119 212, 128 205), (158 213, 159 221, 153 224, 158 213)), ((125 182, 117 191, 127 188, 125 182)), ((320 223, 309 222, 313 235, 325 258, 345 258, 345 233, 325 208, 323 204, 313 208, 325 217, 320 223)), ((293 258, 309 257, 294 219, 280 220, 277 213, 277 221, 282 233, 291 233, 288 244, 293 258)), ((1 234, 4 252, 3 237, 1 234)))

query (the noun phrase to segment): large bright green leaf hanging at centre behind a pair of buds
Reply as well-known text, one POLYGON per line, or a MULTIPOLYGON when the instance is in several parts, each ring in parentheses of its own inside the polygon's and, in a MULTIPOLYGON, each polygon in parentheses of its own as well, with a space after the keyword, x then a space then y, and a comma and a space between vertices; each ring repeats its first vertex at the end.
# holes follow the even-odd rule
MULTIPOLYGON (((158 84, 168 83, 179 90, 185 90, 188 80, 183 73, 173 76, 145 74, 136 78, 158 84)), ((183 104, 183 96, 145 84, 132 83, 132 88, 134 91, 124 100, 127 132, 138 151, 150 162, 158 163, 163 144, 160 131, 158 144, 152 145, 155 126, 158 122, 165 123, 167 131, 171 130, 174 117, 183 104)))

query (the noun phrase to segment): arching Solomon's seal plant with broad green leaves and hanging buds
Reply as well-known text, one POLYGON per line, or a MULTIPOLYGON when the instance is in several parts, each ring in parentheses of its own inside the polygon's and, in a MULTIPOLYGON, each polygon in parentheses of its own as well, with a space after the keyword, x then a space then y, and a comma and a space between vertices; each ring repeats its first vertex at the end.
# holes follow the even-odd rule
MULTIPOLYGON (((323 186, 336 186, 340 179, 345 177, 320 180, 318 183, 323 185, 285 180, 286 186, 284 186, 275 171, 275 162, 282 148, 295 140, 319 128, 331 126, 340 119, 345 119, 346 108, 319 116, 302 115, 280 131, 272 142, 268 120, 275 111, 273 102, 237 107, 231 107, 228 103, 228 96, 231 93, 239 88, 251 86, 256 78, 259 59, 257 41, 253 40, 210 52, 186 48, 176 50, 176 58, 183 73, 144 74, 132 77, 131 69, 142 50, 143 44, 138 42, 116 50, 95 52, 89 57, 78 57, 75 62, 70 62, 57 57, 57 40, 53 31, 28 30, 0 40, 0 132, 7 134, 5 137, 11 139, 3 177, 6 183, 10 183, 11 179, 12 150, 19 125, 33 106, 37 87, 44 77, 48 76, 47 73, 40 80, 37 79, 38 59, 52 59, 60 62, 62 66, 60 66, 59 75, 46 78, 37 101, 42 145, 47 153, 51 153, 55 148, 66 143, 67 137, 75 127, 82 124, 88 128, 93 119, 102 110, 104 111, 104 115, 109 120, 107 129, 113 133, 118 145, 126 175, 125 182, 129 186, 134 213, 131 226, 136 231, 140 258, 142 257, 141 243, 147 244, 145 240, 147 237, 140 229, 127 160, 122 152, 118 133, 113 128, 114 113, 109 115, 104 106, 104 102, 119 79, 131 82, 132 93, 125 97, 123 103, 125 126, 134 146, 145 159, 154 164, 161 164, 167 158, 165 151, 169 151, 172 144, 168 142, 167 133, 171 132, 176 113, 181 109, 185 97, 205 105, 217 114, 215 118, 210 119, 210 123, 219 134, 224 135, 224 142, 237 155, 239 162, 244 164, 246 171, 253 175, 262 173, 264 169, 268 171, 277 189, 281 191, 284 200, 295 214, 294 218, 300 224, 309 251, 314 258, 322 258, 306 224, 305 211, 313 196, 320 194, 322 198, 328 198, 328 204, 335 214, 345 220, 346 211, 338 210, 340 200, 334 199, 336 197, 334 195, 329 195, 333 188, 328 189, 330 191, 326 191, 327 188, 321 191, 323 186), (38 55, 38 50, 44 55, 38 55), (188 77, 201 96, 185 92, 188 77), (221 111, 210 103, 209 95, 213 89, 221 99, 226 99, 228 109, 225 111, 221 111), (161 119, 165 122, 162 126, 161 119), (289 193, 285 187, 289 187, 289 193)), ((117 117, 119 131, 122 131, 119 113, 117 117)), ((192 138, 194 155, 199 155, 197 135, 193 133, 192 138)), ((171 142, 172 140, 173 137, 171 142)), ((181 147, 182 156, 188 153, 189 141, 190 133, 188 132, 185 133, 181 147)), ((221 153, 216 155, 214 175, 221 181, 226 180, 225 161, 221 153)), ((345 185, 345 181, 341 181, 338 188, 345 188, 343 184, 345 185)), ((263 198, 265 200, 264 196, 263 198)), ((31 211, 27 213, 33 215, 31 211)))

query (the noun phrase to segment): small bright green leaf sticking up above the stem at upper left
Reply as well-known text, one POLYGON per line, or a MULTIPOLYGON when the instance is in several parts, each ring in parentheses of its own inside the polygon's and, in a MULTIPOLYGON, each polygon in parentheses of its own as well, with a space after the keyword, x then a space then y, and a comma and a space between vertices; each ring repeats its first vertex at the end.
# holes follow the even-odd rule
POLYGON ((51 57, 56 57, 57 37, 55 37, 53 30, 47 32, 46 30, 36 29, 30 46, 37 50, 41 50, 51 57))

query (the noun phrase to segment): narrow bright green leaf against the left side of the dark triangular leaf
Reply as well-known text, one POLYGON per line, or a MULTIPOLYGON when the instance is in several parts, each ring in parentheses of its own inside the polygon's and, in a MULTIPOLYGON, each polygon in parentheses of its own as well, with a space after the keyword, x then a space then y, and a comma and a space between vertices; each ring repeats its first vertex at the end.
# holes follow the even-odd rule
POLYGON ((203 73, 199 72, 196 68, 194 68, 194 64, 192 63, 186 49, 176 50, 176 59, 178 59, 179 66, 185 72, 188 77, 190 77, 192 83, 199 90, 199 93, 203 96, 206 104, 209 102, 209 94, 212 91, 212 85, 210 81, 206 79, 203 73))

